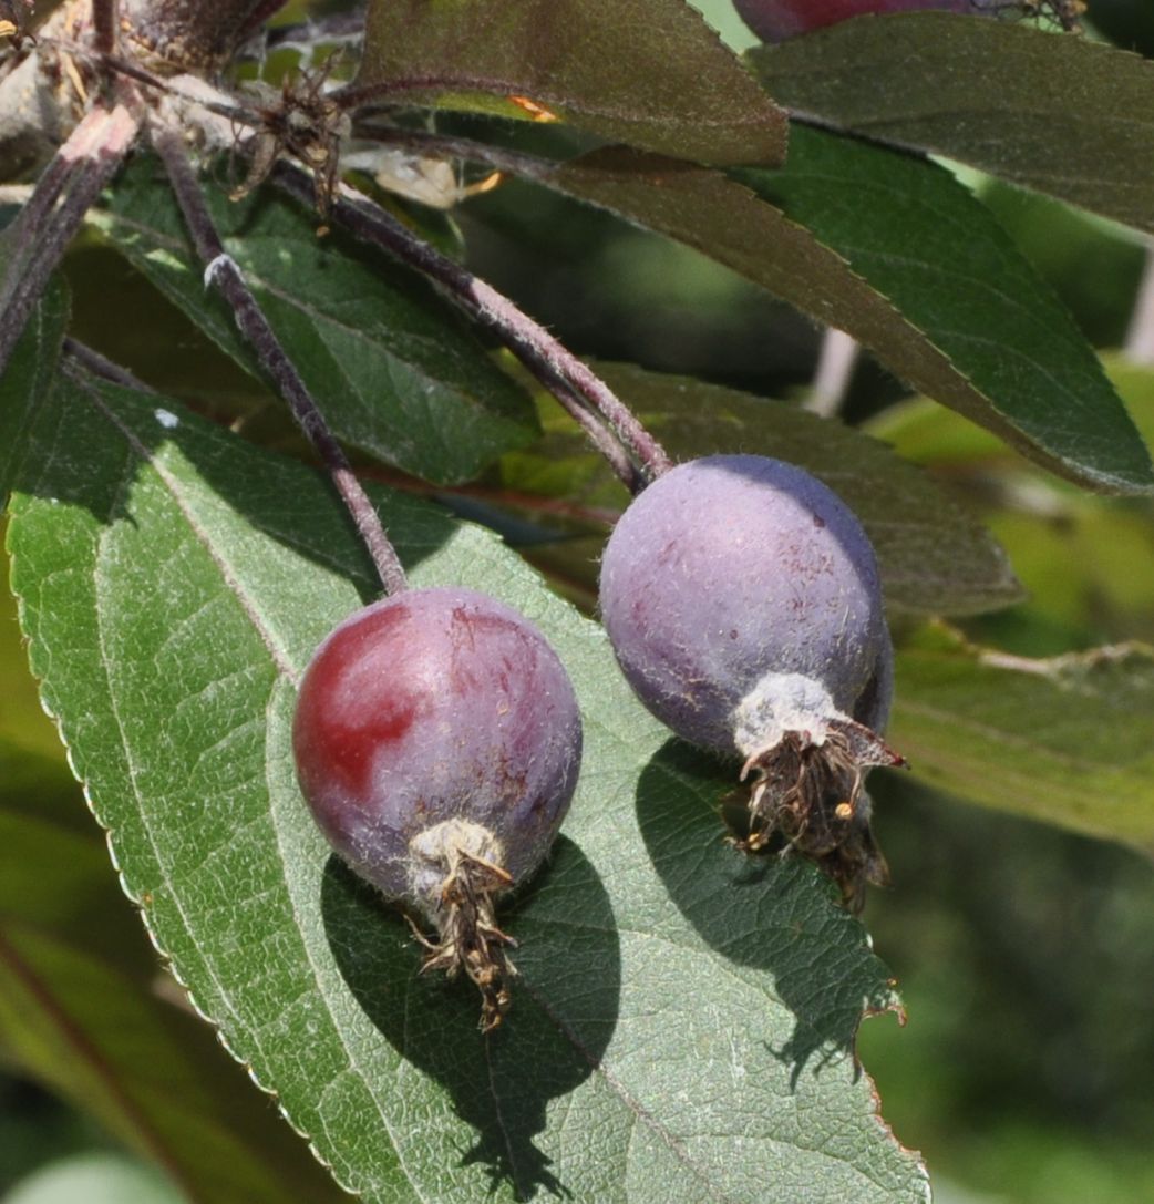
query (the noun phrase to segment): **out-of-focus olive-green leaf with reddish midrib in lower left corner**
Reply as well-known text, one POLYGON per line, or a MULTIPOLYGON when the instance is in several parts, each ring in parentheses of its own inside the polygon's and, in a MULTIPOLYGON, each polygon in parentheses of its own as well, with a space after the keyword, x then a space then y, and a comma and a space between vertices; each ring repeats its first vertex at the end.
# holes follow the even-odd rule
MULTIPOLYGON (((7 561, 0 567, 7 577, 7 561)), ((341 1197, 188 1009, 110 872, 0 582, 0 1049, 197 1204, 341 1197), (52 738, 46 745, 45 733, 52 738)), ((28 1190, 31 1190, 29 1181, 28 1190)), ((71 1197, 88 1204, 91 1196, 71 1197)), ((7 1197, 5 1197, 7 1200, 7 1197)))

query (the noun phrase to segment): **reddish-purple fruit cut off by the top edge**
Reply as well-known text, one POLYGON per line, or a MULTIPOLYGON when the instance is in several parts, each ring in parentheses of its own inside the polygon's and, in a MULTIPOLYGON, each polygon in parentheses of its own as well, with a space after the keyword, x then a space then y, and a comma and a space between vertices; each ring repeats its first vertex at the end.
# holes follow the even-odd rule
POLYGON ((1085 12, 1083 0, 734 0, 741 19, 765 42, 807 34, 868 13, 939 10, 976 17, 1049 17, 1063 29, 1076 29, 1085 12))

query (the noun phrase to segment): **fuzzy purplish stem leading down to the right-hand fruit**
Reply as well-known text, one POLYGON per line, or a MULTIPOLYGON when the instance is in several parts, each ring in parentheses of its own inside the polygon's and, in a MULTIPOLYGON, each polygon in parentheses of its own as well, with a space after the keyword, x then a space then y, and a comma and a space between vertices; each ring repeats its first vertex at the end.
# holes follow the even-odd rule
MULTIPOLYGON (((314 185, 302 169, 279 163, 272 178, 297 200, 313 202, 314 185)), ((544 326, 368 197, 347 185, 339 191, 332 219, 434 281, 474 321, 490 330, 581 425, 627 489, 637 492, 673 466, 662 445, 609 385, 544 326)))

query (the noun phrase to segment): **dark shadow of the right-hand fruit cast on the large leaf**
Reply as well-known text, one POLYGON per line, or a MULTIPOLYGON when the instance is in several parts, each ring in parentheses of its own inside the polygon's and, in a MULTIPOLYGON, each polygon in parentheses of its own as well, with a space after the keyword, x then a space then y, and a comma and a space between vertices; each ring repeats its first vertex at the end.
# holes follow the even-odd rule
POLYGON ((768 972, 794 1028, 770 1054, 791 1084, 853 1055, 866 1010, 893 1007, 886 967, 836 889, 800 857, 751 856, 726 840, 720 816, 734 779, 718 762, 668 740, 643 772, 638 824, 670 898, 700 937, 738 966, 768 972))

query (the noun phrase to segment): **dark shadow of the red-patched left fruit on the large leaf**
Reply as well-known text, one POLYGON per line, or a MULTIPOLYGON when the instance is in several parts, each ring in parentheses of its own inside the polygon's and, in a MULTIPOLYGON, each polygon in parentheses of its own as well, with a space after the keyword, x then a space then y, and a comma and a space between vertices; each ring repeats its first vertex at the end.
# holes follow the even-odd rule
POLYGON ((479 1163, 520 1199, 572 1198, 534 1144, 551 1099, 585 1081, 617 1020, 621 952, 609 896, 581 850, 560 837, 546 869, 503 908, 520 942, 513 1007, 489 1035, 480 999, 460 979, 419 973, 404 921, 333 855, 321 887, 329 943, 361 1009, 386 1040, 452 1098, 477 1131, 462 1165, 479 1163))

